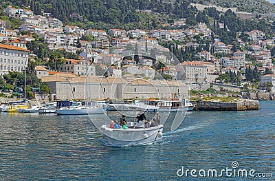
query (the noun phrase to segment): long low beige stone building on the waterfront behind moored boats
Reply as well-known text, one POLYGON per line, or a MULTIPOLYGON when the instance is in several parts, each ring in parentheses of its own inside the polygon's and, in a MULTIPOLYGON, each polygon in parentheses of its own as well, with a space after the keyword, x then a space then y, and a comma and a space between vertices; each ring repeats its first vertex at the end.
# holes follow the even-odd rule
MULTIPOLYGON (((146 81, 140 78, 126 80, 121 77, 100 78, 89 76, 88 97, 90 100, 110 98, 148 99, 148 98, 183 98, 188 95, 188 86, 178 81, 146 81)), ((54 99, 85 99, 86 77, 66 74, 43 77, 41 80, 51 88, 54 99)))

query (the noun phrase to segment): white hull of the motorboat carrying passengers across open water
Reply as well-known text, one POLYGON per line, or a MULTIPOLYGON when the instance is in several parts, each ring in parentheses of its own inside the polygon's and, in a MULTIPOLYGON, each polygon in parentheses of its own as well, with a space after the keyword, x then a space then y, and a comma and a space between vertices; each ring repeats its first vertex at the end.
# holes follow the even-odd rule
MULTIPOLYGON (((132 124, 132 122, 128 123, 132 124)), ((155 127, 128 127, 128 129, 112 129, 102 125, 101 133, 108 145, 122 147, 127 145, 144 145, 162 140, 163 125, 155 127)))

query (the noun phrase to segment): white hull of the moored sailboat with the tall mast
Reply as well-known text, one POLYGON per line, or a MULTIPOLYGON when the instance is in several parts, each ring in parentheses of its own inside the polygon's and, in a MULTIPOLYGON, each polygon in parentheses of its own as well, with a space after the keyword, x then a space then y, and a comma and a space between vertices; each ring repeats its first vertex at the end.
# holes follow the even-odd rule
POLYGON ((104 114, 104 109, 102 107, 76 107, 67 108, 63 107, 56 110, 56 114, 59 115, 83 115, 83 114, 104 114))

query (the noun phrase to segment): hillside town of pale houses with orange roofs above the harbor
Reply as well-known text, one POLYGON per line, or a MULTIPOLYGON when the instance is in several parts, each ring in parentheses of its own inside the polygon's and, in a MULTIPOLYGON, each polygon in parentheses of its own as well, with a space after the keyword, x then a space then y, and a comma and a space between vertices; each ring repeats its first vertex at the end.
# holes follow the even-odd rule
MULTIPOLYGON (((54 99, 66 98, 61 90, 65 89, 64 86, 68 83, 68 75, 70 81, 74 80, 72 82, 75 84, 74 91, 69 97, 83 98, 78 87, 83 89, 84 79, 81 77, 87 76, 86 67, 89 76, 94 77, 92 81, 98 83, 97 87, 101 86, 100 81, 97 81, 100 77, 115 77, 120 82, 126 81, 124 84, 127 84, 127 81, 132 83, 133 80, 142 79, 144 81, 136 81, 135 84, 146 85, 147 82, 151 82, 159 86, 162 85, 159 77, 162 77, 171 85, 175 81, 188 82, 190 89, 198 91, 210 88, 211 84, 219 84, 220 87, 224 85, 223 89, 231 91, 241 92, 247 89, 248 92, 255 92, 256 81, 248 80, 248 74, 253 75, 251 72, 254 71, 255 74, 261 75, 255 87, 256 91, 275 92, 274 39, 267 39, 261 30, 236 32, 236 43, 226 45, 221 37, 215 36, 206 23, 197 23, 192 29, 104 31, 64 25, 50 13, 36 15, 29 9, 8 6, 5 13, 8 17, 19 19, 23 23, 11 30, 6 21, 0 20, 1 76, 9 72, 24 72, 30 62, 37 61, 38 54, 28 50, 32 42, 42 41, 51 51, 63 50, 78 54, 78 59, 65 58, 60 67, 55 65, 54 69, 45 63, 36 65, 36 76, 51 88, 54 99), (82 40, 82 37, 91 39, 82 40), (197 39, 206 39, 211 43, 201 44, 197 39), (178 61, 179 56, 169 54, 175 52, 176 46, 166 45, 167 42, 175 41, 186 42, 177 45, 177 50, 197 50, 197 53, 188 61, 178 61), (228 80, 224 76, 226 74, 237 81, 228 80), (77 81, 79 78, 82 81, 77 81), (63 85, 58 86, 61 82, 63 85)), ((184 25, 184 21, 173 23, 173 27, 181 25, 184 25)), ((218 23, 217 27, 226 28, 221 23, 218 23)), ((43 57, 44 62, 50 60, 47 55, 43 57)), ((106 86, 107 84, 103 89, 107 89, 106 86)), ((163 94, 162 98, 167 98, 165 88, 157 89, 163 94)), ((140 94, 144 91, 143 88, 140 94)), ((175 90, 174 93, 179 96, 179 90, 175 90)), ((132 96, 129 95, 127 98, 132 96)), ((96 95, 93 98, 99 97, 100 95, 96 95)), ((107 95, 104 95, 100 98, 106 97, 107 95)))

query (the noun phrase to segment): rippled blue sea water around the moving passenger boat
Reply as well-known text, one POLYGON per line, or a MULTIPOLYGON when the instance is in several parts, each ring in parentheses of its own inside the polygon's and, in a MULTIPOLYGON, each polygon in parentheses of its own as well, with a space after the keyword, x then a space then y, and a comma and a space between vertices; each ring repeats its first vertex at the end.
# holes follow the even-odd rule
MULTIPOLYGON (((275 102, 259 111, 192 111, 162 142, 109 147, 87 116, 0 114, 1 180, 274 180, 275 102), (254 169, 272 178, 177 176, 254 169)), ((92 119, 100 119, 94 116, 92 119)))

